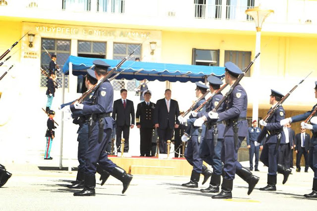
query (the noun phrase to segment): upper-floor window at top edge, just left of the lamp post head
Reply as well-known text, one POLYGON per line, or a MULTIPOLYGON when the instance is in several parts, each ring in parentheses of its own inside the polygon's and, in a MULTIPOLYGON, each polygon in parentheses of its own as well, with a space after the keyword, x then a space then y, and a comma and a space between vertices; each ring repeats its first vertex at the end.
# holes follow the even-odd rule
POLYGON ((227 0, 226 19, 251 20, 251 17, 245 11, 253 7, 254 0, 227 0))

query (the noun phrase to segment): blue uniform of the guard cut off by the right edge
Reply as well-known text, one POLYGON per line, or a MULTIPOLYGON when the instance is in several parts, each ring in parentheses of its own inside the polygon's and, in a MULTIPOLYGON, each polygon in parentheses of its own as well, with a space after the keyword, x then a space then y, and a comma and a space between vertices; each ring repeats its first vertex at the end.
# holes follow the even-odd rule
MULTIPOLYGON (((317 81, 315 82, 315 93, 317 91, 317 81)), ((308 111, 304 114, 300 114, 294 117, 291 117, 291 122, 299 122, 305 121, 316 109, 317 104, 313 107, 311 111, 308 111)), ((316 114, 314 116, 316 118, 316 114)), ((313 179, 313 192, 310 194, 305 194, 304 196, 307 198, 317 198, 317 125, 313 124, 312 129, 312 139, 310 142, 309 154, 308 154, 308 163, 311 169, 314 171, 314 179, 313 179)))

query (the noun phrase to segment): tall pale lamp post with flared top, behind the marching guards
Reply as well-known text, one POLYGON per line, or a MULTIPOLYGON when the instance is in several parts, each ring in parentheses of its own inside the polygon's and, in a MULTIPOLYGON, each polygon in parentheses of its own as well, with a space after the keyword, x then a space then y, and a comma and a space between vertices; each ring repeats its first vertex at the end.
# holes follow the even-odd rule
MULTIPOLYGON (((263 24, 266 17, 268 17, 270 14, 274 13, 274 10, 261 9, 260 6, 256 6, 254 8, 247 9, 245 12, 246 12, 246 14, 250 15, 253 18, 253 20, 256 24, 257 34, 256 34, 255 54, 257 54, 261 50, 262 24, 263 24)), ((254 64, 254 69, 253 69, 253 74, 252 74, 254 87, 256 87, 258 85, 259 75, 260 75, 260 57, 258 57, 258 61, 255 62, 255 64, 254 64)), ((259 96, 258 96, 258 94, 254 93, 253 94, 252 120, 258 121, 258 119, 259 119, 259 96)))

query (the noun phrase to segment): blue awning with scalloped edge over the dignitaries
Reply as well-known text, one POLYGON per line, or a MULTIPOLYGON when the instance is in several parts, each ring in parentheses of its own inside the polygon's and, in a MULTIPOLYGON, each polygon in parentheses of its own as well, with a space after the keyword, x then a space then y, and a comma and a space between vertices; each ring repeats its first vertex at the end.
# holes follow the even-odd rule
MULTIPOLYGON (((72 73, 75 76, 86 75, 86 69, 93 66, 96 58, 86 58, 79 56, 69 56, 63 66, 63 73, 68 74, 69 63, 72 63, 72 73)), ((121 60, 101 59, 111 66, 115 67, 121 60)), ((126 61, 117 72, 124 70, 116 79, 143 80, 149 81, 169 81, 169 82, 205 82, 206 76, 211 74, 217 77, 224 76, 224 67, 202 66, 202 65, 184 65, 167 64, 154 62, 134 62, 126 61)), ((117 73, 116 72, 116 73, 117 73)))

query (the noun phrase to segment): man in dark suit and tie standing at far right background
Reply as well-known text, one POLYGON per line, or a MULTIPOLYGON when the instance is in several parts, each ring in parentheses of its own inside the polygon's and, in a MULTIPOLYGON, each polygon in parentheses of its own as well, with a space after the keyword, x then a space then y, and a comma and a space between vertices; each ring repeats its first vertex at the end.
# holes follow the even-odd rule
POLYGON ((306 133, 306 129, 301 127, 301 132, 296 134, 296 171, 301 171, 301 158, 304 154, 305 158, 305 172, 308 172, 308 153, 311 136, 306 133))

